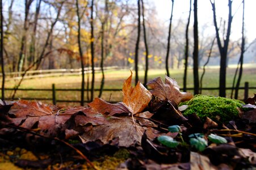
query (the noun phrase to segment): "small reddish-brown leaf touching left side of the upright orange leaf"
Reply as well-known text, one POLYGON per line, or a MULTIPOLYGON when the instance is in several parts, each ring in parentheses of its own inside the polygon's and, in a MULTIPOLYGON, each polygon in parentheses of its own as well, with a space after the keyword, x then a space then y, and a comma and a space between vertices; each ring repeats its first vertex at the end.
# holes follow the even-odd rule
POLYGON ((119 113, 129 113, 129 110, 123 103, 111 104, 100 98, 96 98, 93 102, 88 104, 91 108, 94 108, 97 112, 113 116, 119 113))

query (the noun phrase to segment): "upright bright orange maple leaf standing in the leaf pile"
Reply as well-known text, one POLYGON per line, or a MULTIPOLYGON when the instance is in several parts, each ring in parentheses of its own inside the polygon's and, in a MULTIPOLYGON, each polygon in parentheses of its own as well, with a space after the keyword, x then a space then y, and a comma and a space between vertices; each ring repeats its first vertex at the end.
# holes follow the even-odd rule
POLYGON ((136 87, 132 87, 132 71, 123 84, 123 94, 123 103, 132 114, 142 112, 152 99, 151 93, 140 82, 136 87))

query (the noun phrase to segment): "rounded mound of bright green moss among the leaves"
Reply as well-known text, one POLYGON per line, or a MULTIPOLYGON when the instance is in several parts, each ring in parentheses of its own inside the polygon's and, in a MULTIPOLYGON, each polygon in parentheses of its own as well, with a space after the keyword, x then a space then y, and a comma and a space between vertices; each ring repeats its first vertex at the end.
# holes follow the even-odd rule
POLYGON ((183 112, 184 116, 196 113, 200 118, 207 116, 214 121, 228 122, 238 116, 236 108, 241 108, 244 103, 225 97, 195 95, 193 99, 183 104, 188 105, 183 112))

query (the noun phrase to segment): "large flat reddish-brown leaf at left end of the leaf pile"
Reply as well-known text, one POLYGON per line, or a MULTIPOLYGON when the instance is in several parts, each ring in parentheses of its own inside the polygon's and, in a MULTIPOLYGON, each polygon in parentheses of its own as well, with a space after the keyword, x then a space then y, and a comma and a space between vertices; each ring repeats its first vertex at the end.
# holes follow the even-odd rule
MULTIPOLYGON (((103 114, 95 112, 91 108, 62 108, 60 112, 52 113, 51 108, 47 105, 24 100, 14 103, 9 111, 9 116, 10 123, 27 129, 37 129, 40 134, 47 137, 55 137, 60 130, 70 129, 70 126, 76 128, 76 126, 86 124, 108 124, 107 118, 103 114)), ((70 136, 70 134, 68 135, 70 136)))

